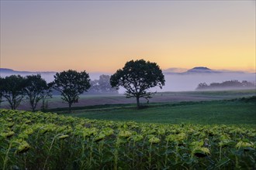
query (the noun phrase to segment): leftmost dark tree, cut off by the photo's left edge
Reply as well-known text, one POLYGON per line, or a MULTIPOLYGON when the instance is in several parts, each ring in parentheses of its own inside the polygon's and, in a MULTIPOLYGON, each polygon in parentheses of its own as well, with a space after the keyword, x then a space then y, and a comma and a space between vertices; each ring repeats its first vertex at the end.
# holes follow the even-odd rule
POLYGON ((25 78, 22 76, 6 76, 1 80, 1 93, 2 97, 8 101, 12 110, 16 110, 22 101, 23 97, 25 97, 25 78))

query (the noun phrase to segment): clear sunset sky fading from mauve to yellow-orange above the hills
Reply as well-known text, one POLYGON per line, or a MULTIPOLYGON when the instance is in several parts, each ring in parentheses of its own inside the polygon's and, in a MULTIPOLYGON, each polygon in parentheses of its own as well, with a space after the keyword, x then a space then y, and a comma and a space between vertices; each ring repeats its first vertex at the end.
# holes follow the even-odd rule
POLYGON ((255 73, 254 0, 0 3, 1 68, 114 73, 145 59, 255 73))

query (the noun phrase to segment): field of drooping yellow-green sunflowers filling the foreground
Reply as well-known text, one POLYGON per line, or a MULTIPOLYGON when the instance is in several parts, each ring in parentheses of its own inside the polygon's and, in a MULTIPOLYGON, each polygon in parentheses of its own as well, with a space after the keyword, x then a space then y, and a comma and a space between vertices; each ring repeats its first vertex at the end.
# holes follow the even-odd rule
POLYGON ((0 110, 1 169, 254 169, 256 130, 0 110))

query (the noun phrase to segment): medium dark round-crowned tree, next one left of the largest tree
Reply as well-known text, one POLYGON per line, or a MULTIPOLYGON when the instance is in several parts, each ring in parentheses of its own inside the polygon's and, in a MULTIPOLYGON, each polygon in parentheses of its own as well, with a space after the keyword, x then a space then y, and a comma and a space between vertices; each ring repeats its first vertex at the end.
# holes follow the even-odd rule
POLYGON ((70 113, 71 105, 78 103, 79 95, 90 87, 89 81, 89 75, 85 71, 78 73, 67 70, 54 75, 53 87, 61 92, 61 99, 68 103, 70 113))

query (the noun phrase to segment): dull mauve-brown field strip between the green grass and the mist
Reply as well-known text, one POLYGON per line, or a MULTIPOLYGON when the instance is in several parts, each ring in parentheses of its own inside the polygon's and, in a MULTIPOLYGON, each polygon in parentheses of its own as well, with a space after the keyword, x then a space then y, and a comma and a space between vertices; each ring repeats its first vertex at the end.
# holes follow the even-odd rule
MULTIPOLYGON (((185 91, 185 92, 162 92, 156 93, 153 98, 150 99, 150 104, 153 103, 173 103, 181 101, 202 101, 202 100, 226 100, 239 97, 251 97, 256 96, 256 90, 222 90, 222 91, 185 91)), ((141 99, 142 104, 146 104, 147 100, 141 99)), ((135 104, 134 98, 126 98, 123 94, 85 94, 81 95, 79 102, 72 107, 85 107, 93 105, 104 104, 135 104)), ((38 104, 37 109, 40 110, 41 104, 38 104)), ((5 101, 1 104, 1 108, 9 109, 9 104, 5 101)), ((54 95, 48 101, 48 108, 67 107, 67 103, 61 100, 60 95, 54 95)), ((31 110, 29 101, 25 98, 22 104, 18 107, 18 110, 31 110)))

